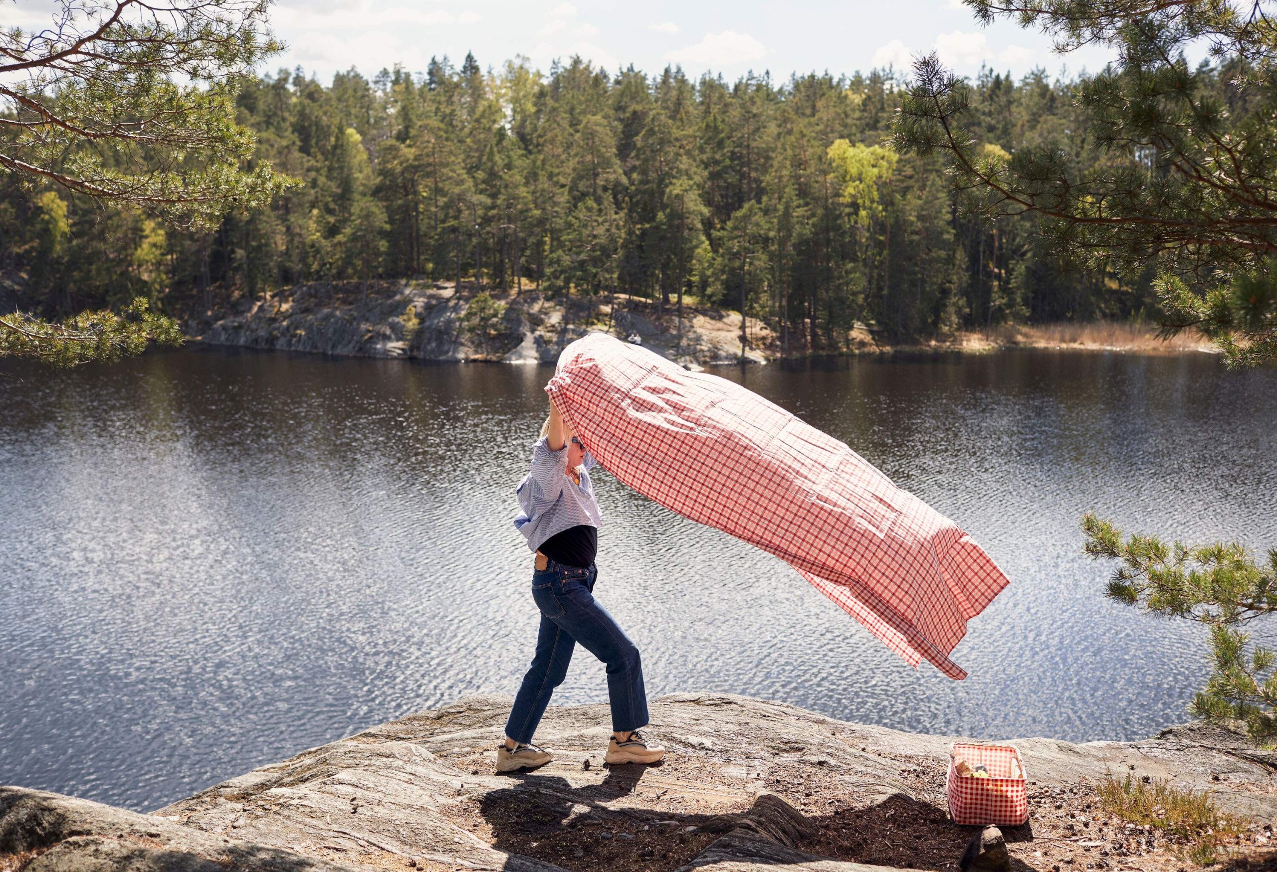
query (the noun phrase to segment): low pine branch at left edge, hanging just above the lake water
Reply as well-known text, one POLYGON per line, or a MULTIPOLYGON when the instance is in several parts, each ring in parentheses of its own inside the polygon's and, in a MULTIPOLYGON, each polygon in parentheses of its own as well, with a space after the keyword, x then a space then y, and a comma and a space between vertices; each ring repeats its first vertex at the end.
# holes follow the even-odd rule
POLYGON ((82 312, 61 323, 24 313, 0 315, 0 357, 31 357, 54 366, 114 363, 140 354, 149 342, 180 345, 178 322, 137 297, 121 313, 82 312))

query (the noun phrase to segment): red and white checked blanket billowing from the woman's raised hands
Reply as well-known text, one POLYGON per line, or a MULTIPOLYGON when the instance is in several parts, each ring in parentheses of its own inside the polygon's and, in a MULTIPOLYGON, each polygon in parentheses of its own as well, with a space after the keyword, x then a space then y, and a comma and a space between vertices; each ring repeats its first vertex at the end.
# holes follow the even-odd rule
POLYGON ((1006 576, 844 443, 604 333, 563 349, 545 391, 621 481, 788 562, 909 665, 967 677, 949 654, 1006 576))

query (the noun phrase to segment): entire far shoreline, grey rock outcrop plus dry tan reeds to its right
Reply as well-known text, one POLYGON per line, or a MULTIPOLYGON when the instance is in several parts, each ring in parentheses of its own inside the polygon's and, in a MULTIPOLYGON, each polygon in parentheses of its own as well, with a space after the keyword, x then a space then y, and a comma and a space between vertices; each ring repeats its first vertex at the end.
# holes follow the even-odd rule
MULTIPOLYGON (((739 365, 741 315, 686 306, 682 323, 672 310, 649 301, 603 297, 567 300, 536 290, 488 297, 471 308, 472 289, 446 282, 382 282, 366 292, 349 286, 310 283, 257 300, 230 301, 229 312, 181 318, 188 340, 204 345, 304 351, 355 357, 407 357, 432 361, 555 363, 571 341, 608 332, 638 342, 688 369, 739 365), (681 336, 679 336, 681 331, 681 336)), ((1152 327, 1119 322, 1002 324, 991 331, 891 345, 863 324, 839 337, 842 347, 784 354, 782 337, 748 318, 750 364, 882 357, 893 355, 981 355, 1010 349, 1137 354, 1151 356, 1218 354, 1204 340, 1179 336, 1161 341, 1152 327)))

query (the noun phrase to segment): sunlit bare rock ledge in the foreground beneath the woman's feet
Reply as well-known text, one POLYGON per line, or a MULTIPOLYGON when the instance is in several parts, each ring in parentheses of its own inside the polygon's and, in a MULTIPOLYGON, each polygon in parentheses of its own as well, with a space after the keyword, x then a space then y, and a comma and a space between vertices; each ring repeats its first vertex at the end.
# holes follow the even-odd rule
MULTIPOLYGON (((434 872, 442 869, 953 869, 972 827, 948 822, 951 739, 848 724, 787 705, 673 695, 653 705, 669 756, 601 765, 607 706, 550 709, 557 758, 493 771, 510 700, 404 718, 138 815, 0 788, 0 869, 14 872, 434 872)), ((1254 820, 1232 868, 1272 868, 1277 755, 1200 725, 1144 742, 1016 742, 1029 823, 1011 868, 1181 869, 1156 832, 1098 812, 1107 774, 1208 789, 1254 820), (1254 866, 1250 866, 1254 863, 1254 866)))

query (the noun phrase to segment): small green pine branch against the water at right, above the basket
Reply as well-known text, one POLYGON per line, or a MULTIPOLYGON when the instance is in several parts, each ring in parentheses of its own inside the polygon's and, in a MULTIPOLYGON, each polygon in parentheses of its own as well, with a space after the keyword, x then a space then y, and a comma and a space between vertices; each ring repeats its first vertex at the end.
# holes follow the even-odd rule
POLYGON ((1277 737, 1277 652, 1253 643, 1241 629, 1277 612, 1277 550, 1262 566, 1236 543, 1190 548, 1156 536, 1124 539, 1089 513, 1083 531, 1088 554, 1119 562, 1110 599, 1209 627, 1213 670, 1193 712, 1243 721, 1255 742, 1277 737))

